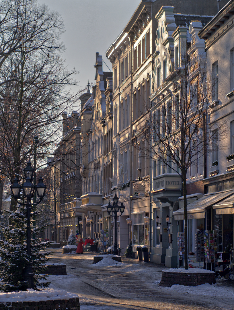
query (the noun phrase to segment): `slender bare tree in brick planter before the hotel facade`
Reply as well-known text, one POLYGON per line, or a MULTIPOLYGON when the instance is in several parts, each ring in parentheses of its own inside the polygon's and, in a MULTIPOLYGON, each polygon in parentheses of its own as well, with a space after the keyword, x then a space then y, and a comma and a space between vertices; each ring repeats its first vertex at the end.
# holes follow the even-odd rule
POLYGON ((177 173, 183 182, 184 262, 185 269, 188 269, 186 180, 192 167, 196 174, 200 169, 201 175, 204 168, 206 177, 206 154, 211 150, 209 146, 218 127, 212 130, 207 122, 214 83, 212 75, 206 72, 205 52, 194 51, 186 41, 180 52, 177 63, 171 58, 171 73, 155 92, 147 116, 151 135, 145 136, 152 159, 161 163, 163 173, 177 173))

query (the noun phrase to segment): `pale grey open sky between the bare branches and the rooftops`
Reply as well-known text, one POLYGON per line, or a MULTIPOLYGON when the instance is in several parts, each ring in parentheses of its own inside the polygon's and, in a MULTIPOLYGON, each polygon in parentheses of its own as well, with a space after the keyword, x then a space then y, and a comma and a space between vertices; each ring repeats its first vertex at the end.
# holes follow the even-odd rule
MULTIPOLYGON (((95 55, 99 52, 111 69, 106 50, 124 29, 140 0, 38 0, 62 16, 66 32, 62 35, 68 69, 80 71, 79 89, 95 82, 95 55)), ((109 71, 103 63, 103 71, 109 71)), ((73 90, 75 91, 75 90, 73 90)))

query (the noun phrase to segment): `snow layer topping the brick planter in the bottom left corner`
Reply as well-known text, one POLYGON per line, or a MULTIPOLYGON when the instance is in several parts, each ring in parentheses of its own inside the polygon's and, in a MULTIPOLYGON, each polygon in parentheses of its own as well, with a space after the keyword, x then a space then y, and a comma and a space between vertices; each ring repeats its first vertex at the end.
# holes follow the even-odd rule
POLYGON ((27 291, 0 293, 1 303, 12 303, 19 301, 46 301, 55 299, 70 299, 78 297, 76 294, 67 293, 65 290, 45 289, 35 291, 28 289, 27 291))

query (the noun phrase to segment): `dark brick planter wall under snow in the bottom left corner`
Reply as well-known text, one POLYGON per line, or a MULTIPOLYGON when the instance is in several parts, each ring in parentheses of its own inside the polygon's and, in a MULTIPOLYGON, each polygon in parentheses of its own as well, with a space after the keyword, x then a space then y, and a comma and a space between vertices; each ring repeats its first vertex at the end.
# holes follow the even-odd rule
POLYGON ((12 302, 1 303, 1 310, 54 310, 54 309, 70 309, 80 310, 79 298, 71 298, 69 300, 57 299, 46 301, 24 301, 24 302, 12 302))

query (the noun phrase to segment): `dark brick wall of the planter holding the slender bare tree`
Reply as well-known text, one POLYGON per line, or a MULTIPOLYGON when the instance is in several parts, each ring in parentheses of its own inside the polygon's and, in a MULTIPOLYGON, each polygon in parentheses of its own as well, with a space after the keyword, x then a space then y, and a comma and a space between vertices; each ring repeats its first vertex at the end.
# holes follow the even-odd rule
POLYGON ((215 281, 214 272, 170 272, 163 271, 162 280, 159 286, 171 287, 174 284, 185 285, 185 286, 197 286, 201 284, 213 284, 215 281))

